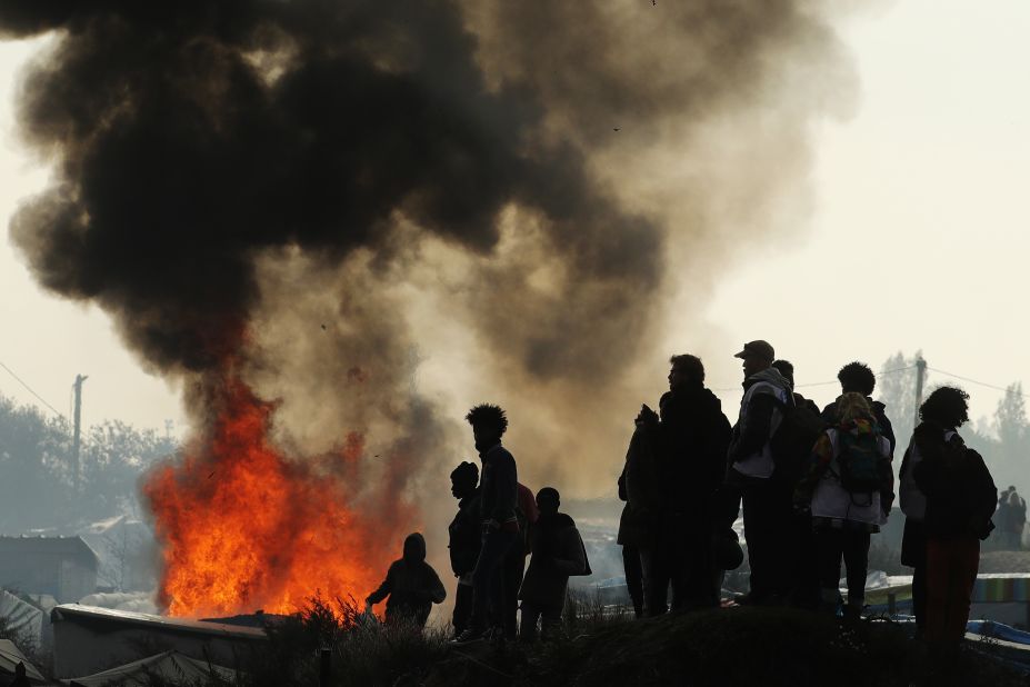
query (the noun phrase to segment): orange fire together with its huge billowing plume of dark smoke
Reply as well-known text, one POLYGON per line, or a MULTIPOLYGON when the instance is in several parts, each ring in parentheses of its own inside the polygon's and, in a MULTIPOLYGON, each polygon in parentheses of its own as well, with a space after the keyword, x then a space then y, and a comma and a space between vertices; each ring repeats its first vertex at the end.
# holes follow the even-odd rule
POLYGON ((631 417, 680 273, 703 291, 722 229, 762 229, 803 177, 806 118, 841 81, 813 11, 0 4, 0 38, 56 34, 18 103, 53 182, 13 241, 194 417, 186 459, 144 487, 170 613, 371 588, 426 515, 414 491, 442 491, 454 459, 444 400, 413 381, 444 330, 469 332, 481 370, 451 400, 501 392, 534 479, 571 479, 573 444, 614 465, 624 432, 601 418, 631 417), (778 99, 770 77, 803 88, 778 99), (298 313, 317 319, 288 330, 298 313))

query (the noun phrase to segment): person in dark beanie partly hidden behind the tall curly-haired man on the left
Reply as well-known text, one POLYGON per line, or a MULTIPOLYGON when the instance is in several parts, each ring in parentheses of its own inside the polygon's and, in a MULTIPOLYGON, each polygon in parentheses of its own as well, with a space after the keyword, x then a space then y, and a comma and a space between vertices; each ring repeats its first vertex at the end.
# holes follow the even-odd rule
POLYGON ((454 594, 454 614, 451 624, 457 637, 472 619, 472 570, 482 546, 482 527, 479 519, 479 468, 474 462, 462 462, 451 472, 451 494, 458 499, 458 514, 448 527, 451 570, 458 578, 454 594))

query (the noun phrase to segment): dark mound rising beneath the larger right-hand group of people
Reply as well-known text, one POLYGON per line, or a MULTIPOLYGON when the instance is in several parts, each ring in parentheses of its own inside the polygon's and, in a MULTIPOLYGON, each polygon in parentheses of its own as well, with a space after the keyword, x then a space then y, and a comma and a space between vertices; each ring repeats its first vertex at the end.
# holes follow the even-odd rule
MULTIPOLYGON (((424 685, 1026 686, 1026 673, 971 643, 931 659, 903 626, 841 624, 792 609, 741 608, 584 627, 550 645, 451 650, 424 685), (474 653, 473 653, 474 651, 474 653), (474 659, 474 660, 472 660, 474 659)), ((474 645, 473 645, 474 646, 474 645)), ((412 676, 413 677, 413 676, 412 676)))

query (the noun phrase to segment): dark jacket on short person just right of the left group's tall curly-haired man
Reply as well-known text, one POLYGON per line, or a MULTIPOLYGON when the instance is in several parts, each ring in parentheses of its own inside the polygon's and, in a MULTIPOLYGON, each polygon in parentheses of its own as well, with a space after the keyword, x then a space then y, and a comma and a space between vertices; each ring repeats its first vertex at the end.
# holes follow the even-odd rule
POLYGON ((572 518, 563 512, 542 514, 519 598, 539 608, 561 608, 569 576, 590 574, 587 549, 572 518))

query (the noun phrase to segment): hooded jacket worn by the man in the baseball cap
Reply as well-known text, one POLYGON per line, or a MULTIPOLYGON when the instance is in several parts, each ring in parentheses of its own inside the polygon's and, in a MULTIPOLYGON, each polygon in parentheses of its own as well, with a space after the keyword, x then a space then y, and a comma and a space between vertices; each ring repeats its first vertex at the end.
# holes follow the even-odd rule
POLYGON ((793 394, 787 378, 772 367, 744 379, 743 389, 729 464, 744 477, 769 479, 776 468, 770 439, 783 420, 780 408, 793 402, 793 394))

